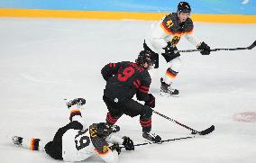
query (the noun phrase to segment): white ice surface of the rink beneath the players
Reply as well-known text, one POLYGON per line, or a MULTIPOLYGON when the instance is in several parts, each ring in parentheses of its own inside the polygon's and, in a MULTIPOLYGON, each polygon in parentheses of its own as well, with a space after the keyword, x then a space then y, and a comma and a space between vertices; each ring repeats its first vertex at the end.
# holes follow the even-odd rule
MULTIPOLYGON (((0 18, 0 162, 59 162, 44 152, 18 148, 12 135, 50 140, 69 122, 64 98, 85 97, 88 123, 105 122, 101 68, 137 58, 152 22, 0 18)), ((195 23, 195 35, 212 48, 247 47, 256 24, 195 23)), ((181 39, 179 50, 195 49, 181 39)), ((209 56, 182 53, 174 83, 178 98, 160 96, 160 77, 168 64, 151 70, 155 110, 198 131, 215 131, 189 140, 123 151, 119 162, 253 163, 256 161, 256 48, 217 51, 209 56)), ((142 143, 139 117, 117 122, 135 143, 142 143)), ((174 122, 152 116, 152 131, 163 140, 190 136, 174 122)), ((92 157, 87 162, 103 162, 92 157)))

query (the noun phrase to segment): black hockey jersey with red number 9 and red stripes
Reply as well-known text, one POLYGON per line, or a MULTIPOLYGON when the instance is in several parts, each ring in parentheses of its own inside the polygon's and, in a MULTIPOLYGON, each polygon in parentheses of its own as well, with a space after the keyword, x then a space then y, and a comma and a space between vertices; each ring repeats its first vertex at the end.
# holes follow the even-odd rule
POLYGON ((150 100, 151 76, 136 63, 109 63, 102 68, 101 74, 106 81, 104 95, 115 103, 131 99, 135 94, 140 101, 150 100))

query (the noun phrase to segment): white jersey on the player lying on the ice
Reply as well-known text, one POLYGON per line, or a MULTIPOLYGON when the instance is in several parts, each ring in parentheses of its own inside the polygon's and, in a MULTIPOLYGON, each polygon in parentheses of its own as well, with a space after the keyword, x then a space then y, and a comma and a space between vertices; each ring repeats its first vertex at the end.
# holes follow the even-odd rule
POLYGON ((123 139, 114 135, 100 138, 96 135, 96 125, 85 130, 69 130, 62 136, 62 158, 64 161, 81 161, 98 155, 107 163, 118 161, 118 153, 109 148, 108 142, 122 144, 123 139))

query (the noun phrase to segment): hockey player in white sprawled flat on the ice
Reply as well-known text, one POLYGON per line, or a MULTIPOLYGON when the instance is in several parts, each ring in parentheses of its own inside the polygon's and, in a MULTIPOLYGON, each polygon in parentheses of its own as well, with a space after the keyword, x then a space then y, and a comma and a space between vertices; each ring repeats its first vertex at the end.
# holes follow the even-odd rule
POLYGON ((133 140, 126 136, 120 138, 112 135, 111 127, 105 122, 93 123, 85 128, 80 112, 85 104, 86 100, 83 98, 69 101, 70 122, 59 128, 50 142, 14 136, 12 138, 14 144, 27 149, 43 150, 51 158, 69 162, 81 161, 98 155, 107 163, 115 163, 121 152, 119 144, 123 144, 127 150, 134 150, 133 140), (109 146, 109 142, 114 145, 109 146))

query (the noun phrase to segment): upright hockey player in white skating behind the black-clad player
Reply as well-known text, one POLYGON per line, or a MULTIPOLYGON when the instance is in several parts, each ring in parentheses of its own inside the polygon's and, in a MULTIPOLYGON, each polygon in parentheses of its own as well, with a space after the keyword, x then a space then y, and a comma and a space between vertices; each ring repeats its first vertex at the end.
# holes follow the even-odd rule
POLYGON ((177 13, 171 13, 160 19, 158 23, 151 25, 144 43, 144 50, 148 50, 156 59, 155 68, 159 68, 159 54, 163 56, 169 68, 163 77, 160 78, 160 94, 178 96, 178 89, 171 84, 178 75, 181 67, 180 54, 175 52, 181 36, 194 44, 202 55, 210 54, 210 47, 204 41, 198 41, 193 34, 193 21, 190 19, 191 8, 187 2, 178 3, 177 13))

